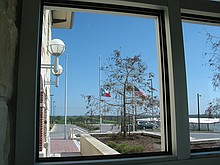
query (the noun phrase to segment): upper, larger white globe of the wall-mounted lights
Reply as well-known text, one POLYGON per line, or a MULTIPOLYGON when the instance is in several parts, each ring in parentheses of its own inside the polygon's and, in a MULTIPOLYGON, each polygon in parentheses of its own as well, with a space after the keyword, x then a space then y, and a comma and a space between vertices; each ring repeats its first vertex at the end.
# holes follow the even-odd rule
POLYGON ((48 52, 54 56, 60 56, 65 51, 65 44, 60 39, 53 39, 49 42, 48 52))

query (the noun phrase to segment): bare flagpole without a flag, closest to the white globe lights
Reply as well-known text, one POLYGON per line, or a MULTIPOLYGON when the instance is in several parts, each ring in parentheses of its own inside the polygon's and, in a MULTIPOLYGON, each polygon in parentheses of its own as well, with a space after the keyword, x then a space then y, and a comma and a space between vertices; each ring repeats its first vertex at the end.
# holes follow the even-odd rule
POLYGON ((64 96, 64 121, 65 121, 65 124, 64 124, 64 139, 67 139, 66 137, 66 134, 67 134, 67 77, 68 77, 68 74, 67 74, 67 68, 68 68, 68 55, 66 54, 66 67, 65 67, 65 96, 64 96))

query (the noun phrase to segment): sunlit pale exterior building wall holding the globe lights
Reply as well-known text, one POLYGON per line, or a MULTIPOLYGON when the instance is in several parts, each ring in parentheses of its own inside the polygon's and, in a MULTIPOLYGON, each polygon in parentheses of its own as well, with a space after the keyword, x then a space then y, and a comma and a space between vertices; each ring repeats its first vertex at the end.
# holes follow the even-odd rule
MULTIPOLYGON (((42 46, 41 46, 41 64, 51 64, 51 55, 47 51, 47 45, 51 40, 51 12, 44 10, 43 25, 42 25, 42 46)), ((50 85, 46 85, 45 81, 49 82, 51 69, 41 68, 42 86, 41 93, 43 101, 40 105, 40 157, 47 157, 50 155, 48 146, 49 141, 49 127, 50 127, 50 85), (45 124, 46 123, 46 124, 45 124), (44 145, 44 144, 48 145, 44 145)), ((53 77, 52 77, 53 79, 53 77)))

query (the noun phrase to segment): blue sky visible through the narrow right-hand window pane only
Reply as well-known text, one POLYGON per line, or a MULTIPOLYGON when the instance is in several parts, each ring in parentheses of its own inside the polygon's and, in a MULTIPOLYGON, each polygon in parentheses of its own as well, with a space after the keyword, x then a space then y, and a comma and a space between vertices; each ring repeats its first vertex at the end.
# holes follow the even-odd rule
POLYGON ((209 58, 204 53, 212 52, 210 44, 206 44, 206 33, 220 35, 220 27, 183 23, 184 51, 187 70, 188 103, 190 113, 197 113, 197 93, 200 97, 200 111, 204 113, 207 104, 220 97, 219 91, 213 91, 212 71, 205 65, 209 58))

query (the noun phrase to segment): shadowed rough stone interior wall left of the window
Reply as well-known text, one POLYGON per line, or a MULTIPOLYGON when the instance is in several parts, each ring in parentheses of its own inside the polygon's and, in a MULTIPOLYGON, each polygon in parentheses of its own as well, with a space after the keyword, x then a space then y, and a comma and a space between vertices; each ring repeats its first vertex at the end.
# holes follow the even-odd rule
POLYGON ((15 90, 16 85, 16 27, 17 0, 0 1, 0 164, 13 164, 15 90))

